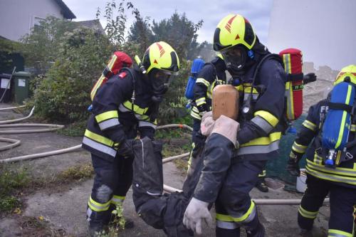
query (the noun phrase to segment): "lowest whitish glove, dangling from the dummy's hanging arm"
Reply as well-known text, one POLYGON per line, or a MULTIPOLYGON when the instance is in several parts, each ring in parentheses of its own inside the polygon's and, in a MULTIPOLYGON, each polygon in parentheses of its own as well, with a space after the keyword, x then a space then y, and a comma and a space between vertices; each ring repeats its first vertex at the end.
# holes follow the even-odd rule
POLYGON ((212 223, 211 215, 208 210, 209 203, 192 198, 183 217, 183 224, 192 231, 201 234, 201 220, 207 224, 212 223))

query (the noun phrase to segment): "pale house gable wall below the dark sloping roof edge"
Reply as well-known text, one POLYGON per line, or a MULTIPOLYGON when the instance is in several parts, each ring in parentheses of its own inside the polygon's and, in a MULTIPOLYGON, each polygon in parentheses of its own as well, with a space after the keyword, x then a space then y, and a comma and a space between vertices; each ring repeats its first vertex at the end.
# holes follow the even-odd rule
POLYGON ((54 0, 0 0, 0 36, 18 41, 30 33, 35 18, 56 16, 63 19, 54 0))

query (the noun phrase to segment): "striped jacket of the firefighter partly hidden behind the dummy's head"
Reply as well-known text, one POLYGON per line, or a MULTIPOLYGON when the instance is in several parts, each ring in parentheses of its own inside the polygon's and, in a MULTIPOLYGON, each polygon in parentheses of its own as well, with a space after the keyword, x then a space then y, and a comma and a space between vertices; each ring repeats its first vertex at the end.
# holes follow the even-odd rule
POLYGON ((201 120, 198 107, 204 107, 205 111, 211 110, 211 96, 216 85, 226 83, 226 65, 219 57, 206 63, 197 76, 194 85, 194 106, 190 115, 197 120, 201 120))

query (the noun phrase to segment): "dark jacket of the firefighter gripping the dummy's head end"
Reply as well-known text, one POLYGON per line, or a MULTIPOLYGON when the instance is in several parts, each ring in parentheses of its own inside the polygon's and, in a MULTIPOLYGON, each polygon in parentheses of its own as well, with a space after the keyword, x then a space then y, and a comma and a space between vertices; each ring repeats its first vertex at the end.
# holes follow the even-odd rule
POLYGON ((281 63, 270 58, 263 62, 253 83, 253 73, 258 64, 256 60, 241 78, 243 83, 236 87, 240 95, 238 122, 241 130, 237 135, 239 150, 234 157, 242 161, 278 157, 279 140, 286 121, 286 73, 281 63))

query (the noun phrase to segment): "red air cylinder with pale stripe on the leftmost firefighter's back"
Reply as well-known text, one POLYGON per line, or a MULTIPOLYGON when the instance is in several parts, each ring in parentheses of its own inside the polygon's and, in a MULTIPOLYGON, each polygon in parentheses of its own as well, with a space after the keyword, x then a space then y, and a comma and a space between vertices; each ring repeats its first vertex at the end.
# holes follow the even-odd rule
POLYGON ((99 80, 95 83, 90 92, 90 98, 93 101, 94 96, 98 89, 106 83, 108 78, 112 75, 119 73, 121 68, 130 68, 132 65, 132 59, 126 53, 120 51, 114 52, 110 57, 108 64, 106 65, 103 73, 101 73, 99 80))

